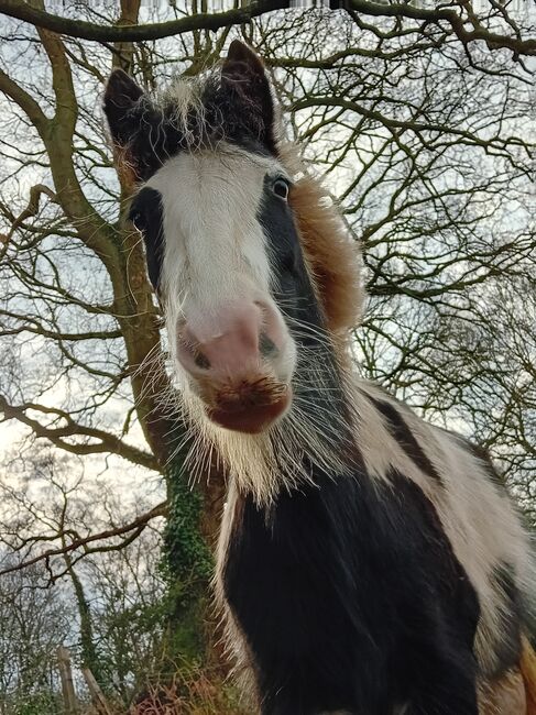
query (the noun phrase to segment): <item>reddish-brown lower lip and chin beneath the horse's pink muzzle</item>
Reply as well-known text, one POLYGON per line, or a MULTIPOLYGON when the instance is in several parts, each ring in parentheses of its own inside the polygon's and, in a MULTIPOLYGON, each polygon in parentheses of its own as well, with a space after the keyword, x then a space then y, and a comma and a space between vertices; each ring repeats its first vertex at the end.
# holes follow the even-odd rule
POLYGON ((208 419, 218 427, 242 432, 261 435, 267 431, 289 409, 292 389, 288 388, 276 400, 263 405, 233 404, 219 407, 205 407, 208 419))

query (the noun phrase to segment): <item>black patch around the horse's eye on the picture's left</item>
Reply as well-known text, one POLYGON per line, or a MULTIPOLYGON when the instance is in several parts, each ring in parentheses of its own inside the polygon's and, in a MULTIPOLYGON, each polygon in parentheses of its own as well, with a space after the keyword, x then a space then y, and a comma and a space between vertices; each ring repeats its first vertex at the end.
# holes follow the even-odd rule
POLYGON ((160 191, 149 186, 142 188, 132 201, 129 219, 142 232, 149 277, 154 289, 157 290, 164 255, 163 207, 160 191))

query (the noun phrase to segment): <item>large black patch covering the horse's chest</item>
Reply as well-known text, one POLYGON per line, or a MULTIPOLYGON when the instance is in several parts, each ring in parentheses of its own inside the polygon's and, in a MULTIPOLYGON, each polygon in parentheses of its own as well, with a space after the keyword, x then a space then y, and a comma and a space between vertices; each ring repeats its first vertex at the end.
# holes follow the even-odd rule
POLYGON ((478 598, 431 503, 397 472, 314 477, 243 497, 228 548, 263 715, 477 715, 478 598))

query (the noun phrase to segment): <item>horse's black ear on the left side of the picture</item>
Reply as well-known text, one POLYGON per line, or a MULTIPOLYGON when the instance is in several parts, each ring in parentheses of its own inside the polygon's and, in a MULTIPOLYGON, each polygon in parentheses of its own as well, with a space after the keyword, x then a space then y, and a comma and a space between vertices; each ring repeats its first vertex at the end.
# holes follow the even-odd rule
POLYGON ((132 77, 122 69, 114 69, 106 85, 103 109, 116 146, 123 147, 140 128, 144 96, 132 77))

